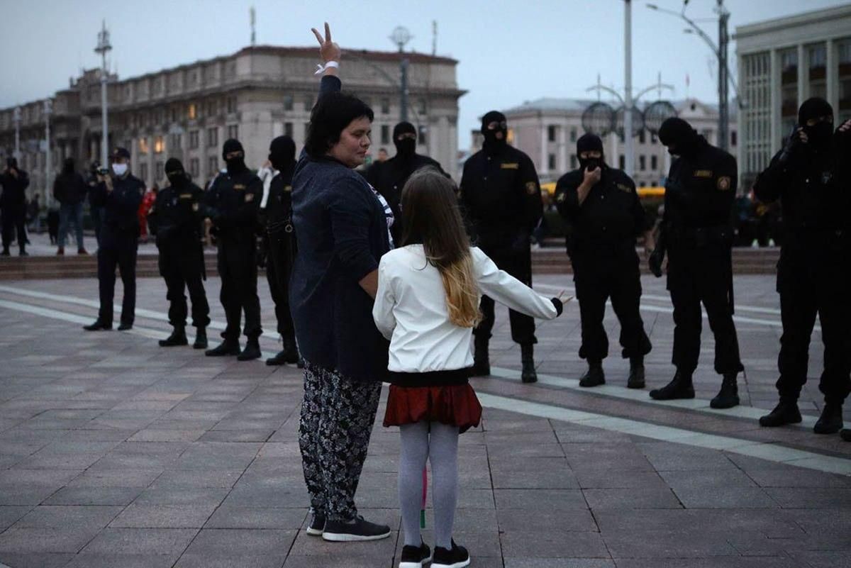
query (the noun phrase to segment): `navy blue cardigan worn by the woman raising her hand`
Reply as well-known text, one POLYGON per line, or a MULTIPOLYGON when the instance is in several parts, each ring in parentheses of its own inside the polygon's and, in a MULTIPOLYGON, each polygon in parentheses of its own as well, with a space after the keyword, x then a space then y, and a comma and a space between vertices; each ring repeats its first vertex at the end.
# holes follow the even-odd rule
POLYGON ((390 344, 358 284, 390 250, 383 207, 354 170, 303 155, 293 175, 293 224, 299 251, 289 301, 301 355, 355 381, 384 380, 390 344))

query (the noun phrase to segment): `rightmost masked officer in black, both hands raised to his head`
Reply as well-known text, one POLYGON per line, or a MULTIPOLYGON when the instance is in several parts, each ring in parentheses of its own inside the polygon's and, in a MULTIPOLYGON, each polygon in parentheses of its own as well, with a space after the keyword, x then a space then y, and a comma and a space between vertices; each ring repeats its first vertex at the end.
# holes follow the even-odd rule
POLYGON ((753 188, 762 202, 780 200, 785 232, 777 267, 783 321, 780 403, 759 419, 762 426, 801 422, 797 399, 807 381, 810 336, 818 315, 825 344, 819 384, 825 406, 814 431, 833 434, 842 428, 842 403, 851 390, 849 136, 848 128, 833 132, 833 109, 825 99, 804 101, 797 128, 753 188))

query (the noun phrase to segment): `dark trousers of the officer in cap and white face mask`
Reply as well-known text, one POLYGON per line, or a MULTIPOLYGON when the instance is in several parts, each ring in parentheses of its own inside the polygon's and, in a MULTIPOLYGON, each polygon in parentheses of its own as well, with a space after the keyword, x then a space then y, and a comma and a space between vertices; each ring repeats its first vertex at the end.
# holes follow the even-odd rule
POLYGON ((98 286, 100 312, 98 319, 112 325, 112 302, 115 298, 115 269, 121 274, 124 298, 121 304, 121 322, 133 325, 136 311, 136 250, 135 233, 131 235, 104 236, 98 247, 98 286))

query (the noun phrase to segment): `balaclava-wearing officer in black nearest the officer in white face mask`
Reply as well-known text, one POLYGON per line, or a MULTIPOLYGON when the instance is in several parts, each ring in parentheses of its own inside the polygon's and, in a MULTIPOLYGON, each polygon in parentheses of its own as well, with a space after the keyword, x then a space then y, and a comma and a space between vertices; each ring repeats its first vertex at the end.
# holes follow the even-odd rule
POLYGON ((161 347, 186 345, 186 296, 192 302, 192 326, 195 349, 207 349, 209 304, 204 293, 203 190, 193 184, 177 158, 165 162, 168 187, 157 192, 148 213, 148 227, 157 238, 160 275, 165 279, 168 298, 168 323, 174 331, 161 339, 161 347))

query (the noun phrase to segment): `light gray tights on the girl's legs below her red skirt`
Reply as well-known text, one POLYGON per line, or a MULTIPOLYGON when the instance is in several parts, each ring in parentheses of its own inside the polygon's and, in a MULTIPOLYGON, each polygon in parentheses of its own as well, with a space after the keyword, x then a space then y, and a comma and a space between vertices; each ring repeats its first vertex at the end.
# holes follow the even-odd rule
POLYGON ((423 469, 427 459, 431 462, 434 545, 452 548, 452 524, 458 500, 458 427, 418 422, 403 424, 399 432, 402 435, 399 503, 405 545, 420 546, 423 469))

